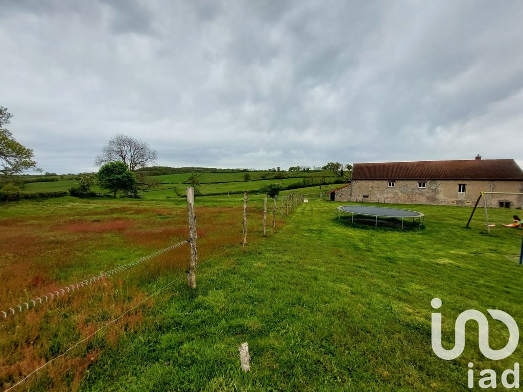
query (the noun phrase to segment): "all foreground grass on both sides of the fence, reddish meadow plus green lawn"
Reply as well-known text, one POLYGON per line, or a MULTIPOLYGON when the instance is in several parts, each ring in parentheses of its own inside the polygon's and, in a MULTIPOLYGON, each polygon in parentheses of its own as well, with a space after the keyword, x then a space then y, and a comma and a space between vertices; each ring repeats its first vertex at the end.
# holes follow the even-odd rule
MULTIPOLYGON (((310 194, 309 203, 283 222, 278 216, 266 238, 263 199, 249 195, 255 236, 246 251, 235 247, 241 226, 212 233, 241 221, 240 195, 197 198, 199 263, 230 252, 198 268, 196 290, 176 281, 19 390, 460 391, 469 362, 477 386, 482 369, 501 375, 522 358, 520 345, 506 360, 486 360, 473 323, 458 359, 441 360, 430 345, 434 297, 443 302, 445 347, 466 309, 498 308, 523 322, 516 262, 523 230, 501 227, 519 211, 491 209, 491 236, 482 211, 466 229, 471 208, 455 206, 404 206, 426 214, 420 230, 348 227, 334 218, 344 203, 317 200, 322 190, 293 191, 310 194), (248 374, 237 350, 243 342, 248 374)), ((186 238, 186 216, 179 198, 3 205, 0 310, 186 238)), ((0 322, 0 386, 183 275, 187 257, 187 247, 177 248, 0 322)), ((501 323, 491 322, 490 333, 492 348, 505 345, 501 323)))

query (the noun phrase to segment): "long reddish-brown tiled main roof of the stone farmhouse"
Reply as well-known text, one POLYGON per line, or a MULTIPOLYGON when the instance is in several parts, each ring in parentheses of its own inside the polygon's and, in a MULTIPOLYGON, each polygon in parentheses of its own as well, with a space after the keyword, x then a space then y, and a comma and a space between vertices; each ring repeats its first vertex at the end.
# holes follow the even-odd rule
POLYGON ((353 180, 523 180, 514 159, 354 164, 353 180))

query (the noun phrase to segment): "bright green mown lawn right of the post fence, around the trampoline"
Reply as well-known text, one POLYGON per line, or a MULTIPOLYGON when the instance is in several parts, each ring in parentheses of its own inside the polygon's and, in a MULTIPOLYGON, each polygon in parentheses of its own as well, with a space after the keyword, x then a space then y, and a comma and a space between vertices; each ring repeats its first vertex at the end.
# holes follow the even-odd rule
MULTIPOLYGON (((521 325, 523 269, 504 256, 519 253, 521 230, 489 237, 480 214, 464 228, 470 208, 420 205, 406 207, 426 214, 422 230, 351 228, 332 219, 337 205, 303 204, 260 244, 198 269, 195 291, 177 282, 116 344, 89 343, 101 352, 81 389, 460 391, 470 361, 477 385, 481 369, 501 375, 521 359, 521 347, 483 358, 474 325, 454 361, 430 346, 434 297, 446 347, 465 309, 503 309, 521 325), (245 341, 248 374, 237 351, 245 341)), ((510 222, 515 212, 490 218, 510 222)), ((490 332, 491 347, 503 347, 506 328, 491 320, 490 332)), ((49 386, 45 377, 33 385, 49 386)))

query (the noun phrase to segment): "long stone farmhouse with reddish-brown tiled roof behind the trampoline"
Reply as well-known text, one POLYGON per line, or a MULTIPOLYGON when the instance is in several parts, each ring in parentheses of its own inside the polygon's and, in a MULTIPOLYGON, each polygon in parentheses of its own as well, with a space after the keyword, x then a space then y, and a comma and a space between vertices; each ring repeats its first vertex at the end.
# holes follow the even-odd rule
MULTIPOLYGON (((514 159, 431 160, 354 164, 349 186, 331 200, 371 203, 473 205, 480 192, 523 193, 514 159)), ((486 195, 491 207, 521 208, 523 195, 486 195)))

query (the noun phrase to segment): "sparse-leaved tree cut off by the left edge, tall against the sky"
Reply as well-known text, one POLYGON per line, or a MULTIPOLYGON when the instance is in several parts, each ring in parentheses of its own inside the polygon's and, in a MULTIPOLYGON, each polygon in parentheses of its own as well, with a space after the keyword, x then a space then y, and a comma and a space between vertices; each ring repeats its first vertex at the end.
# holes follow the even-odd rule
POLYGON ((12 117, 13 114, 0 106, 0 173, 14 175, 29 169, 42 171, 36 167, 32 149, 22 146, 9 130, 4 129, 4 125, 9 124, 12 117))

